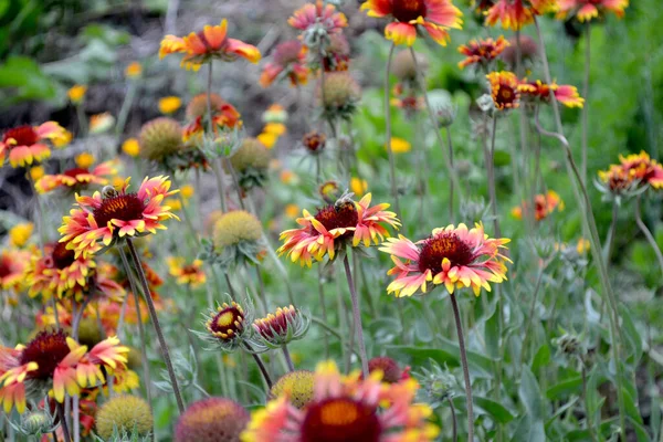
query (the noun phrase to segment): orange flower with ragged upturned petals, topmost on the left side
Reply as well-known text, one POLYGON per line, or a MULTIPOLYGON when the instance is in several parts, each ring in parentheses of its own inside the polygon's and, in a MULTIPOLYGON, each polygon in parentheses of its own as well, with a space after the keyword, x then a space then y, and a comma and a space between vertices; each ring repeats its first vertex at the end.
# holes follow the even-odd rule
POLYGON ((202 31, 191 32, 188 36, 166 35, 159 49, 159 59, 175 53, 185 53, 181 65, 187 70, 198 71, 204 63, 213 59, 225 62, 239 57, 251 63, 260 61, 260 51, 251 44, 240 40, 229 39, 227 35, 228 20, 223 19, 217 27, 206 25, 202 31))

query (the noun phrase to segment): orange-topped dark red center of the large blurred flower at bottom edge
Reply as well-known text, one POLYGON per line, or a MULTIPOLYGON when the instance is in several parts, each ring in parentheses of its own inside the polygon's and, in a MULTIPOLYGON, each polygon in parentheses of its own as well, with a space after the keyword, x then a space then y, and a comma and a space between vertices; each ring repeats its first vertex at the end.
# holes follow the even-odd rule
POLYGON ((382 429, 373 407, 330 398, 306 408, 302 442, 378 442, 382 429))

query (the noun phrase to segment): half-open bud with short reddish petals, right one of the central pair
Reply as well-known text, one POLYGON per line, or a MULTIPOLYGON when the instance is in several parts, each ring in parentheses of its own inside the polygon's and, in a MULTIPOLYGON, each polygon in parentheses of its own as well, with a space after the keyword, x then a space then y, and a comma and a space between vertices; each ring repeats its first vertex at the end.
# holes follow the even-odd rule
POLYGON ((311 324, 308 317, 293 307, 278 307, 263 318, 253 322, 253 329, 261 345, 280 348, 293 340, 302 339, 311 324))

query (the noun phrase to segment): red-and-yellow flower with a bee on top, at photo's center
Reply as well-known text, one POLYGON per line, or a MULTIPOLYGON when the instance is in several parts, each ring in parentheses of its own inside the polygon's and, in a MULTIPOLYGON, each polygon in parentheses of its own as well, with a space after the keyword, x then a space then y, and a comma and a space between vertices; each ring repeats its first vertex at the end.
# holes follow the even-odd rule
POLYGON ((401 224, 396 213, 382 203, 370 207, 371 194, 367 193, 359 202, 351 194, 343 196, 336 203, 319 209, 315 215, 307 210, 297 218, 299 229, 281 233, 284 244, 278 253, 286 253, 293 262, 312 265, 313 259, 322 261, 325 255, 334 260, 336 253, 347 244, 369 246, 371 241, 379 244, 389 231, 383 224, 398 229, 401 224), (350 242, 351 239, 351 242, 350 242))

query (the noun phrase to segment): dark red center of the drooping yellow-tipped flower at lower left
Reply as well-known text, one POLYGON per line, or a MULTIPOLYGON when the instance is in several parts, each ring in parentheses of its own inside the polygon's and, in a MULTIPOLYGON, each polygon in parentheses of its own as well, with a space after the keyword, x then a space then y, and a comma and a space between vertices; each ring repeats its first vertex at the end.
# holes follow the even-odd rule
POLYGON ((53 377, 55 367, 70 354, 66 334, 63 330, 41 332, 21 351, 20 364, 36 362, 38 369, 31 378, 48 380, 53 377))

